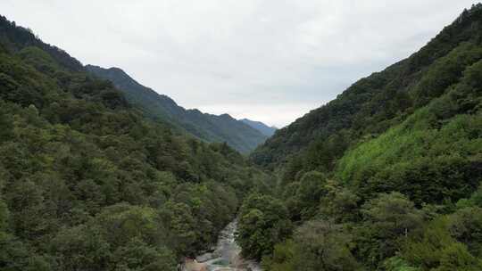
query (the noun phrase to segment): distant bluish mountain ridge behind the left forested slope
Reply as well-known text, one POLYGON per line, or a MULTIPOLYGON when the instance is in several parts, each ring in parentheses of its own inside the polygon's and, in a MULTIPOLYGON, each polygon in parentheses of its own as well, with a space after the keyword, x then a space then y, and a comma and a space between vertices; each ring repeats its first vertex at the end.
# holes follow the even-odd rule
POLYGON ((228 114, 220 116, 198 110, 186 110, 170 97, 157 94, 142 86, 118 68, 104 69, 87 65, 86 69, 99 78, 111 80, 147 116, 162 119, 207 142, 226 142, 239 152, 247 153, 262 144, 268 136, 228 114))

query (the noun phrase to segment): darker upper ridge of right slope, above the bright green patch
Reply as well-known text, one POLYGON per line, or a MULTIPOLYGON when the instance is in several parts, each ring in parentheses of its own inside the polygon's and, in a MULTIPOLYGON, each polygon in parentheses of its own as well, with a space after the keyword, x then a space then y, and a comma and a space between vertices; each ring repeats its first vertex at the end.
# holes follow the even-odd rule
POLYGON ((362 78, 337 99, 278 130, 253 152, 253 160, 273 168, 316 142, 317 148, 327 148, 320 144, 330 141, 344 148, 401 123, 458 82, 465 67, 478 61, 478 53, 467 53, 471 50, 467 47, 477 47, 482 38, 481 17, 478 8, 463 12, 419 52, 362 78))

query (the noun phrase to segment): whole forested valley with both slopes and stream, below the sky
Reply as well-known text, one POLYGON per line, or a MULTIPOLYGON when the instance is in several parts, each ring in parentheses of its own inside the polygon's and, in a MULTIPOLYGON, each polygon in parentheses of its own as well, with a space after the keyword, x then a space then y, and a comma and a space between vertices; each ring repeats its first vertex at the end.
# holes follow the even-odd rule
POLYGON ((0 16, 0 270, 482 270, 482 4, 446 23, 278 129, 0 16))

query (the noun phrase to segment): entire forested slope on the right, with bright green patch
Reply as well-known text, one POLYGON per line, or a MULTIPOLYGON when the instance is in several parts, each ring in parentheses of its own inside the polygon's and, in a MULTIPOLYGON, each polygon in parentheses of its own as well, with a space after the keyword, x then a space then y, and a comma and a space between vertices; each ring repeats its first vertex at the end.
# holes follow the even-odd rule
POLYGON ((238 242, 268 271, 482 270, 482 4, 280 130, 238 242))

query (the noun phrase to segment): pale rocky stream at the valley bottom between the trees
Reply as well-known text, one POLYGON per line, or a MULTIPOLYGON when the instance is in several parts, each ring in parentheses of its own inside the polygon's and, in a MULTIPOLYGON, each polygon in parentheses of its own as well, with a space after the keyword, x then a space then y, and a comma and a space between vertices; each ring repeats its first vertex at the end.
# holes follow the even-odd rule
POLYGON ((221 232, 214 250, 196 257, 196 261, 186 264, 185 271, 261 271, 254 261, 241 258, 241 248, 235 241, 237 221, 229 223, 221 232), (205 269, 203 269, 205 267, 205 269))

